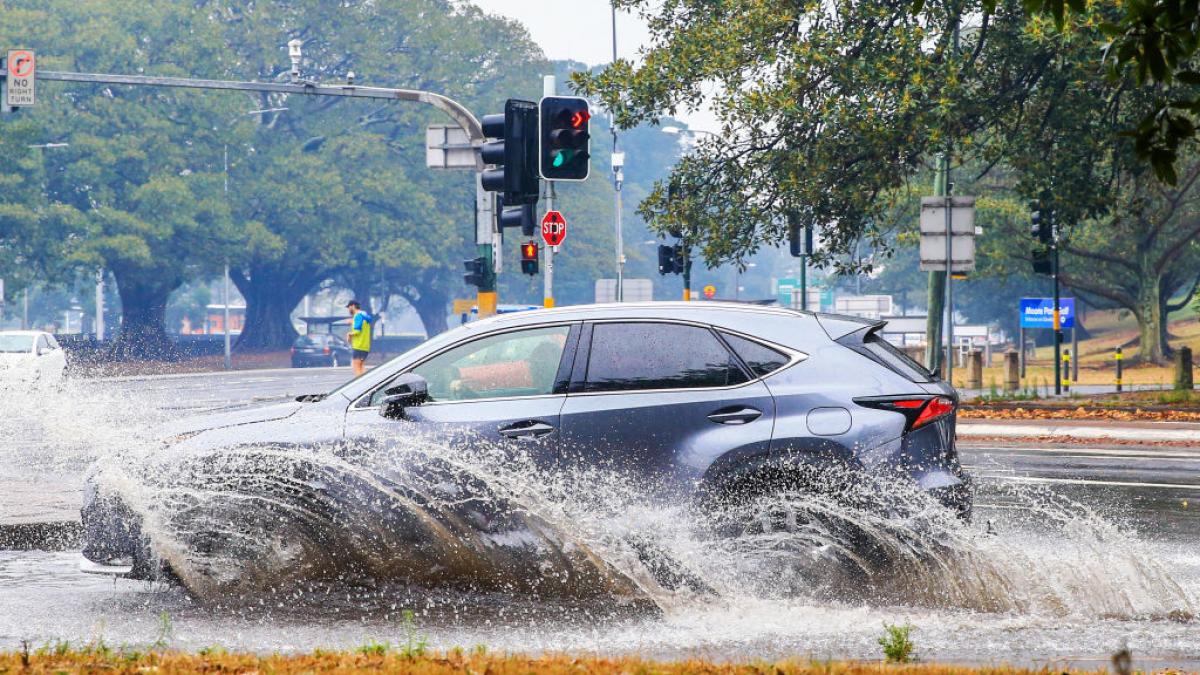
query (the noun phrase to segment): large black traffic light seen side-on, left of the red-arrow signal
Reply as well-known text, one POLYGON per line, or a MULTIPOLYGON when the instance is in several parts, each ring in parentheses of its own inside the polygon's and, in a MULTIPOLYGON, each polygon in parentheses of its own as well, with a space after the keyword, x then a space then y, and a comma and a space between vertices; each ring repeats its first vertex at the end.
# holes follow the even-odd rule
MULTIPOLYGON (((480 154, 484 190, 500 192, 505 209, 538 203, 538 104, 509 98, 504 113, 484 115, 484 136, 492 138, 480 154)), ((503 213, 502 213, 503 219, 503 213)))

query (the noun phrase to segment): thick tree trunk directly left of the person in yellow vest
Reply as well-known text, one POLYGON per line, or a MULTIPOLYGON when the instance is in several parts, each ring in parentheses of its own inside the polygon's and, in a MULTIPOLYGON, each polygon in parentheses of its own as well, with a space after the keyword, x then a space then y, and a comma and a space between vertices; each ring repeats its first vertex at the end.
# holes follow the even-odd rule
POLYGON ((238 336, 238 352, 287 350, 299 336, 292 310, 300 304, 317 275, 281 275, 270 268, 251 268, 250 276, 232 275, 246 298, 246 323, 238 336))

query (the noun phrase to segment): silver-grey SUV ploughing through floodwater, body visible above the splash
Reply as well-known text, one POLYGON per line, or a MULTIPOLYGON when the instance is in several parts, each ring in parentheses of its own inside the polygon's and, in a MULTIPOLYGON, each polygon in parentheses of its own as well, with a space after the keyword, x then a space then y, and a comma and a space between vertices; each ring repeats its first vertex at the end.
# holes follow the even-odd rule
MULTIPOLYGON (((724 303, 534 310, 450 330, 329 394, 172 432, 187 452, 445 429, 520 444, 551 466, 630 472, 658 495, 712 501, 870 476, 966 518, 954 390, 886 342, 882 325, 724 303)), ((84 555, 92 571, 137 575, 137 524, 114 501, 89 490, 84 555)))

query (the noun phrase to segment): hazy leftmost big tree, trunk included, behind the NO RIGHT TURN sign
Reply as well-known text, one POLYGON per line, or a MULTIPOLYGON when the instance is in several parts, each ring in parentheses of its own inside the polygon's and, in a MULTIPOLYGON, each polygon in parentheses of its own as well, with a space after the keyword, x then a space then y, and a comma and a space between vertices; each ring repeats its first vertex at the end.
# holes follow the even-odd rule
MULTIPOLYGON (((173 2, 13 0, 0 7, 0 26, 24 31, 7 42, 41 47, 43 66, 59 70, 185 74, 175 64, 218 55, 220 42, 205 25, 203 11, 173 2)), ((211 269, 232 240, 211 125, 228 117, 228 98, 56 84, 43 84, 41 98, 43 133, 70 143, 47 159, 56 167, 46 173, 53 208, 43 215, 78 214, 42 223, 62 226, 54 232, 70 241, 62 261, 112 271, 122 307, 116 353, 169 352, 167 298, 211 269)), ((26 223, 18 237, 36 241, 42 234, 26 223)))

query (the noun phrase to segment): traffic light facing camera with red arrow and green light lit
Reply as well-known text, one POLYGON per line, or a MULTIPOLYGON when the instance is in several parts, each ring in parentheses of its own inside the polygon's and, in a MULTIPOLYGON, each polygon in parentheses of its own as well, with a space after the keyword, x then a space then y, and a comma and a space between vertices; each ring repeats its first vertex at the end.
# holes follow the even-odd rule
POLYGON ((546 96, 541 100, 539 169, 546 180, 587 180, 592 171, 592 132, 587 98, 546 96))

